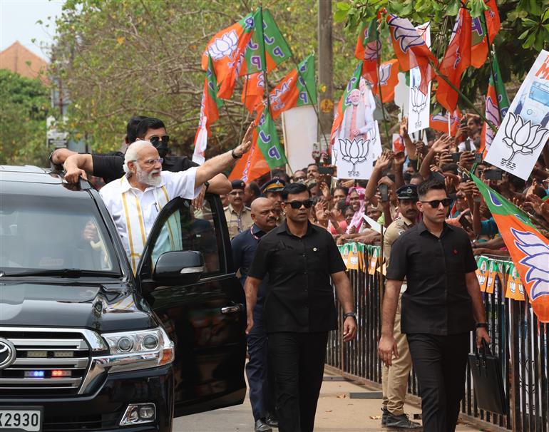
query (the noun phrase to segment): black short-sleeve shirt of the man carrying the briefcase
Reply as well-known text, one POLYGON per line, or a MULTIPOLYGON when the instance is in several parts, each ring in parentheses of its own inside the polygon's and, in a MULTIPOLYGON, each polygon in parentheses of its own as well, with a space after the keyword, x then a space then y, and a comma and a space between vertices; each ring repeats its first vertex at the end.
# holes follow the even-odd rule
POLYGON ((444 224, 439 238, 420 222, 404 232, 391 248, 386 274, 406 277, 401 331, 446 335, 474 329, 465 274, 475 270, 471 242, 461 228, 444 224))

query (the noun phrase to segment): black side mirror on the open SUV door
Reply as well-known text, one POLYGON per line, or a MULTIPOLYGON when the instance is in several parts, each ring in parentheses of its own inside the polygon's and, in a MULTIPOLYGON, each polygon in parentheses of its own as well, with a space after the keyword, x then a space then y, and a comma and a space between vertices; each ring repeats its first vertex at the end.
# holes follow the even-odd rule
POLYGON ((156 260, 153 279, 157 282, 193 284, 204 272, 204 259, 194 250, 164 252, 156 260))

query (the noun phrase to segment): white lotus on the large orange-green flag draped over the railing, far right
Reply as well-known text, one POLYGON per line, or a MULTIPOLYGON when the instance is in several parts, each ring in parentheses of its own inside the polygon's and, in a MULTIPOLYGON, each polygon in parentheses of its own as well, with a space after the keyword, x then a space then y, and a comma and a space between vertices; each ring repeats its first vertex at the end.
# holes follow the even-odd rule
POLYGON ((532 283, 530 299, 534 301, 540 296, 549 296, 549 247, 546 243, 531 232, 522 232, 511 228, 515 237, 515 246, 525 257, 520 259, 520 264, 528 267, 526 272, 526 284, 532 283))

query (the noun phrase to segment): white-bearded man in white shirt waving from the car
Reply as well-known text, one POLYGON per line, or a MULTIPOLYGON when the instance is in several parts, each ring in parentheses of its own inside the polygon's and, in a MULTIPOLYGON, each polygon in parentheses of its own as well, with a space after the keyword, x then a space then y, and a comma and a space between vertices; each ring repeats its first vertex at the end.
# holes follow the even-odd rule
POLYGON ((149 141, 138 140, 128 147, 124 156, 126 174, 99 193, 134 272, 158 212, 175 197, 193 199, 203 183, 242 158, 252 144, 252 130, 250 125, 237 148, 178 173, 162 171, 162 158, 149 141))

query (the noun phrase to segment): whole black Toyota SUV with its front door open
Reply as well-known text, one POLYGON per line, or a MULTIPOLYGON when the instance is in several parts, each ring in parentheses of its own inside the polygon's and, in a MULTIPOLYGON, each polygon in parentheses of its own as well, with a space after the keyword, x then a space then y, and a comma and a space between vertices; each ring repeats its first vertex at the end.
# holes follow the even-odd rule
POLYGON ((134 275, 87 182, 0 167, 0 431, 170 431, 242 403, 244 304, 219 197, 170 201, 134 275))

